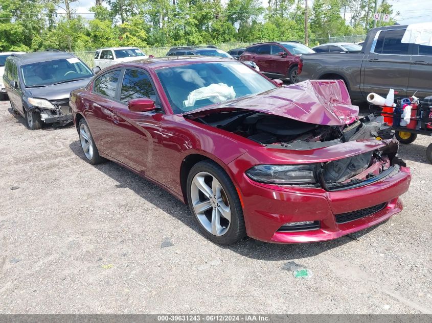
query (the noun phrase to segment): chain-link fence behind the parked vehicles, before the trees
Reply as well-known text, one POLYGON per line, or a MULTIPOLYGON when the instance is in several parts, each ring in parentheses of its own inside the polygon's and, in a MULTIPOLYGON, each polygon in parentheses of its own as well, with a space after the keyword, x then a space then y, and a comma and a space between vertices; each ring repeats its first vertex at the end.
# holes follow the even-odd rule
MULTIPOLYGON (((365 40, 366 35, 351 35, 351 36, 330 36, 327 38, 311 38, 309 39, 309 46, 315 46, 318 44, 328 43, 328 42, 359 42, 365 40)), ((304 39, 299 39, 299 42, 304 43, 304 39)), ((224 43, 218 44, 217 47, 222 49, 222 51, 228 52, 233 48, 245 48, 252 45, 253 42, 239 42, 239 43, 224 43)), ((172 46, 167 47, 148 47, 141 48, 146 55, 153 55, 154 57, 162 57, 167 54, 172 46)), ((88 49, 83 52, 71 52, 75 56, 79 57, 88 66, 93 67, 93 60, 95 57, 96 49, 88 49)))

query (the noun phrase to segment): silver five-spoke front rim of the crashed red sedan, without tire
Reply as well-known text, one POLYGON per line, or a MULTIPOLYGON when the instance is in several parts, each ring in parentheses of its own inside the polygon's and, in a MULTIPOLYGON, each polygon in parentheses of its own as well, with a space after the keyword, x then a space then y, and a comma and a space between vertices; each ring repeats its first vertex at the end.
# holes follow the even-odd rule
POLYGON ((191 201, 196 217, 211 234, 222 236, 231 223, 228 197, 219 181, 210 173, 201 171, 191 184, 191 201))

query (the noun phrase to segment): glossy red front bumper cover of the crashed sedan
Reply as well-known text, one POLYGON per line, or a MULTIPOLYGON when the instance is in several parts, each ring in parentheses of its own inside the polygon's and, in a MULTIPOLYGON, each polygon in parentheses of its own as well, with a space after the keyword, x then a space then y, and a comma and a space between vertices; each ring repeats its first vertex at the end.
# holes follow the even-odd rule
POLYGON ((410 169, 401 167, 392 177, 370 185, 329 192, 321 188, 282 187, 256 183, 241 176, 241 198, 247 235, 275 243, 326 241, 357 232, 402 210, 399 196, 408 190, 410 169), (336 215, 385 203, 380 211, 337 223, 336 215), (278 232, 284 223, 320 221, 310 231, 278 232))

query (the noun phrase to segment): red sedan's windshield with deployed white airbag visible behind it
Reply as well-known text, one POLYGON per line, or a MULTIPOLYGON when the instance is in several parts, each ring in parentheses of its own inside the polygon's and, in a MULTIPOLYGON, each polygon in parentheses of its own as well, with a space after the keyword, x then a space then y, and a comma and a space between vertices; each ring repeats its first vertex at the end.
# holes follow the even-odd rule
POLYGON ((156 73, 174 113, 276 88, 261 74, 236 61, 161 68, 156 73))

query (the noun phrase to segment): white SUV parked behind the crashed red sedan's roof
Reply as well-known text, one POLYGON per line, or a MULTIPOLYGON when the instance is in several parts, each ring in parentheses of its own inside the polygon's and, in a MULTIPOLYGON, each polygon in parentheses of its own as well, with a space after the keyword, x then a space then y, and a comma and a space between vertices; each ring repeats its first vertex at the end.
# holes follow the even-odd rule
POLYGON ((98 49, 95 53, 93 71, 98 73, 105 67, 120 63, 148 58, 138 47, 109 47, 98 49))

